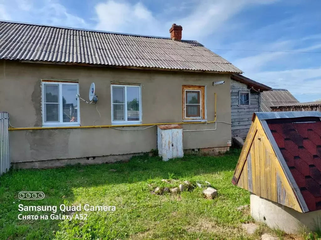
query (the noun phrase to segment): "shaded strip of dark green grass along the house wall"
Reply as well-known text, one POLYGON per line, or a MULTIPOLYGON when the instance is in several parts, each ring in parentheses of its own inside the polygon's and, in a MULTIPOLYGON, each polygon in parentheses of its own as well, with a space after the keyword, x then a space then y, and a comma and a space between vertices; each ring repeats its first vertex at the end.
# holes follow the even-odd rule
MULTIPOLYGON (((74 203, 74 189, 90 191, 89 188, 99 186, 113 187, 157 178, 185 179, 202 174, 234 171, 238 156, 239 151, 236 150, 222 156, 188 155, 164 162, 159 157, 144 155, 133 157, 127 163, 11 170, 0 177, 0 239, 24 239, 26 234, 30 239, 48 236, 47 233, 41 233, 43 229, 35 227, 37 222, 17 220, 21 213, 18 211, 18 204, 59 206, 66 204, 67 200, 69 204, 74 203), (116 171, 112 172, 111 169, 116 171), (42 200, 19 200, 18 193, 21 191, 42 191, 46 197, 42 200), (27 227, 30 225, 33 228, 27 227)), ((47 220, 44 223, 42 220, 41 226, 46 224, 45 231, 53 232, 59 222, 47 220)))

